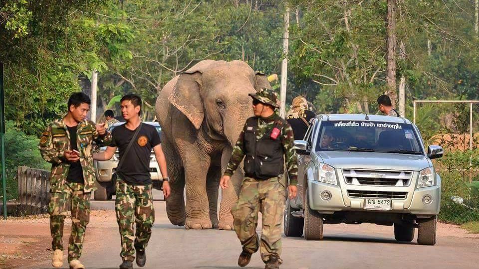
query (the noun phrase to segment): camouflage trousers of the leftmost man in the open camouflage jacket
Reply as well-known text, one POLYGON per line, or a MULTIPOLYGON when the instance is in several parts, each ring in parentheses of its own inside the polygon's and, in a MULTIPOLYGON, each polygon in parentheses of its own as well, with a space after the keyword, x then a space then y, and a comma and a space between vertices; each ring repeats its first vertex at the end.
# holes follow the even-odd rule
POLYGON ((90 222, 90 195, 83 184, 66 182, 61 192, 52 192, 48 204, 52 250, 63 250, 63 224, 71 212, 71 233, 68 241, 68 262, 81 256, 86 225, 90 222))

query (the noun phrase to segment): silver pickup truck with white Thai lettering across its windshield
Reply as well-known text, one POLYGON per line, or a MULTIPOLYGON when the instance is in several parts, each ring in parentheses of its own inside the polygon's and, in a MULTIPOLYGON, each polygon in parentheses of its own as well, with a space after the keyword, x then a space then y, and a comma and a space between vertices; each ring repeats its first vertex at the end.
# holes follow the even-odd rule
POLYGON ((323 224, 394 225, 397 241, 436 244, 441 177, 418 128, 376 115, 320 115, 296 140, 298 196, 287 200, 284 234, 322 240, 323 224))

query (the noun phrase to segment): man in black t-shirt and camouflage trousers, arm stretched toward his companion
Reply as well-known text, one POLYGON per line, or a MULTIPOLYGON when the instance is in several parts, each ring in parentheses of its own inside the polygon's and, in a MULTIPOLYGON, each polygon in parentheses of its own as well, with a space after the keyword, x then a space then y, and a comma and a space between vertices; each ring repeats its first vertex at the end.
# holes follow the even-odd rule
POLYGON ((141 98, 134 94, 123 96, 121 113, 126 124, 113 130, 113 139, 110 146, 105 151, 94 154, 93 158, 109 160, 117 147, 120 152, 120 161, 116 170, 115 211, 120 227, 122 246, 120 256, 123 263, 120 268, 129 269, 133 268, 135 250, 136 264, 139 267, 145 266, 145 249, 151 237, 151 227, 155 221, 150 178, 152 148, 163 175, 163 194, 165 198, 170 195, 170 185, 160 136, 155 127, 141 123, 141 98), (132 144, 129 147, 130 141, 132 144), (136 223, 136 233, 133 229, 134 223, 136 223), (135 238, 134 241, 133 238, 135 238))

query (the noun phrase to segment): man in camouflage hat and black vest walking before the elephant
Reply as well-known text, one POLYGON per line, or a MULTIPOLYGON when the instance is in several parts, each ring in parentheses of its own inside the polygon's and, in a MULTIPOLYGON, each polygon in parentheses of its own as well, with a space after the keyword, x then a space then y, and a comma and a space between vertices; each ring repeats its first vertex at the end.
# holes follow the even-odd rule
POLYGON ((284 162, 289 174, 289 198, 296 197, 297 156, 293 131, 289 124, 274 113, 278 108, 275 92, 261 89, 253 98, 254 117, 246 120, 233 149, 220 186, 229 181, 244 157, 244 172, 238 203, 231 212, 234 228, 242 245, 238 259, 246 266, 251 255, 260 249, 265 269, 278 269, 282 263, 281 221, 285 204, 284 162), (261 239, 256 235, 258 212, 262 213, 261 239))

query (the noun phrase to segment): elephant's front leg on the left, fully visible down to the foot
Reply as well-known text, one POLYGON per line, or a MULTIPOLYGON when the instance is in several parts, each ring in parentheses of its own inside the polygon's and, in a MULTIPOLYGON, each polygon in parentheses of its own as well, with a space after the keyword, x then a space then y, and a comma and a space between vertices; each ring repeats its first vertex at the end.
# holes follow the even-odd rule
POLYGON ((210 205, 206 194, 206 178, 210 168, 210 157, 205 154, 186 153, 186 229, 211 229, 210 205))

